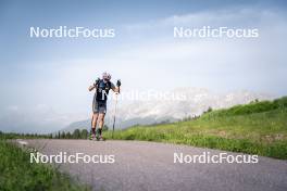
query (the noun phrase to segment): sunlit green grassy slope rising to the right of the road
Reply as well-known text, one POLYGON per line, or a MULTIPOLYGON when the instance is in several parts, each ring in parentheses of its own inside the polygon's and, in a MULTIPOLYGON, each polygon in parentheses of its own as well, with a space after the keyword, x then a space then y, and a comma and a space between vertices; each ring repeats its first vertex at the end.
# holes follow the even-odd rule
MULTIPOLYGON (((105 136, 111 138, 111 131, 105 136)), ((287 160, 287 98, 213 111, 188 122, 117 130, 114 139, 180 143, 287 160)))

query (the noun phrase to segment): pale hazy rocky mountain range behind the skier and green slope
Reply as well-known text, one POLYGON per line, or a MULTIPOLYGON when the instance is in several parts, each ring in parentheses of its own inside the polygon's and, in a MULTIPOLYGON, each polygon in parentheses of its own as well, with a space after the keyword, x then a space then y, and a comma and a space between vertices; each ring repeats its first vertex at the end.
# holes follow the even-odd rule
MULTIPOLYGON (((188 116, 200 115, 210 106, 212 109, 229 107, 273 97, 250 91, 214 93, 202 88, 179 88, 169 92, 167 99, 137 100, 118 105, 115 128, 122 129, 137 124, 149 125, 162 122, 175 122, 188 116), (175 98, 176 97, 176 98, 175 98)), ((105 124, 111 128, 113 105, 109 105, 105 124)), ((65 127, 64 131, 76 128, 90 128, 90 119, 75 122, 65 127)))

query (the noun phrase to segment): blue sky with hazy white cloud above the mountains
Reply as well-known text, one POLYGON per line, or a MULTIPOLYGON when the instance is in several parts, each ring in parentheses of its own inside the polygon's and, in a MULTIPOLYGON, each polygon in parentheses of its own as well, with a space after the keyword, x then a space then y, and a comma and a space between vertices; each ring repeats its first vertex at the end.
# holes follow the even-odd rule
POLYGON ((0 129, 53 131, 90 113, 108 71, 125 90, 200 87, 287 94, 285 1, 0 0, 0 129), (30 38, 30 27, 114 28, 114 38, 30 38), (184 38, 175 26, 258 28, 258 38, 184 38))

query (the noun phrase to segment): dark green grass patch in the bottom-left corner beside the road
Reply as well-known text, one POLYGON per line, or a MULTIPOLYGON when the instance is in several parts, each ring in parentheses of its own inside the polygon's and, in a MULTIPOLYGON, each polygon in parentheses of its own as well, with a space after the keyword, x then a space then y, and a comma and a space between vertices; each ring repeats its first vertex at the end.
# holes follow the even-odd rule
POLYGON ((87 186, 72 179, 54 167, 29 163, 29 153, 0 139, 1 191, 83 191, 87 186))

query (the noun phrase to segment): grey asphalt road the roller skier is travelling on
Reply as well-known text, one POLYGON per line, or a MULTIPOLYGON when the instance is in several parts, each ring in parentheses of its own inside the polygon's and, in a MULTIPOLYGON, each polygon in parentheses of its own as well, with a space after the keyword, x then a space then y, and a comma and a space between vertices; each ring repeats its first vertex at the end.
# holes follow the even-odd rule
MULTIPOLYGON (((112 164, 61 164, 60 169, 104 191, 287 190, 287 161, 259 157, 255 164, 174 163, 174 153, 212 155, 219 150, 141 141, 28 140, 43 154, 114 155, 112 164)), ((240 153, 230 153, 234 156, 240 153)))

